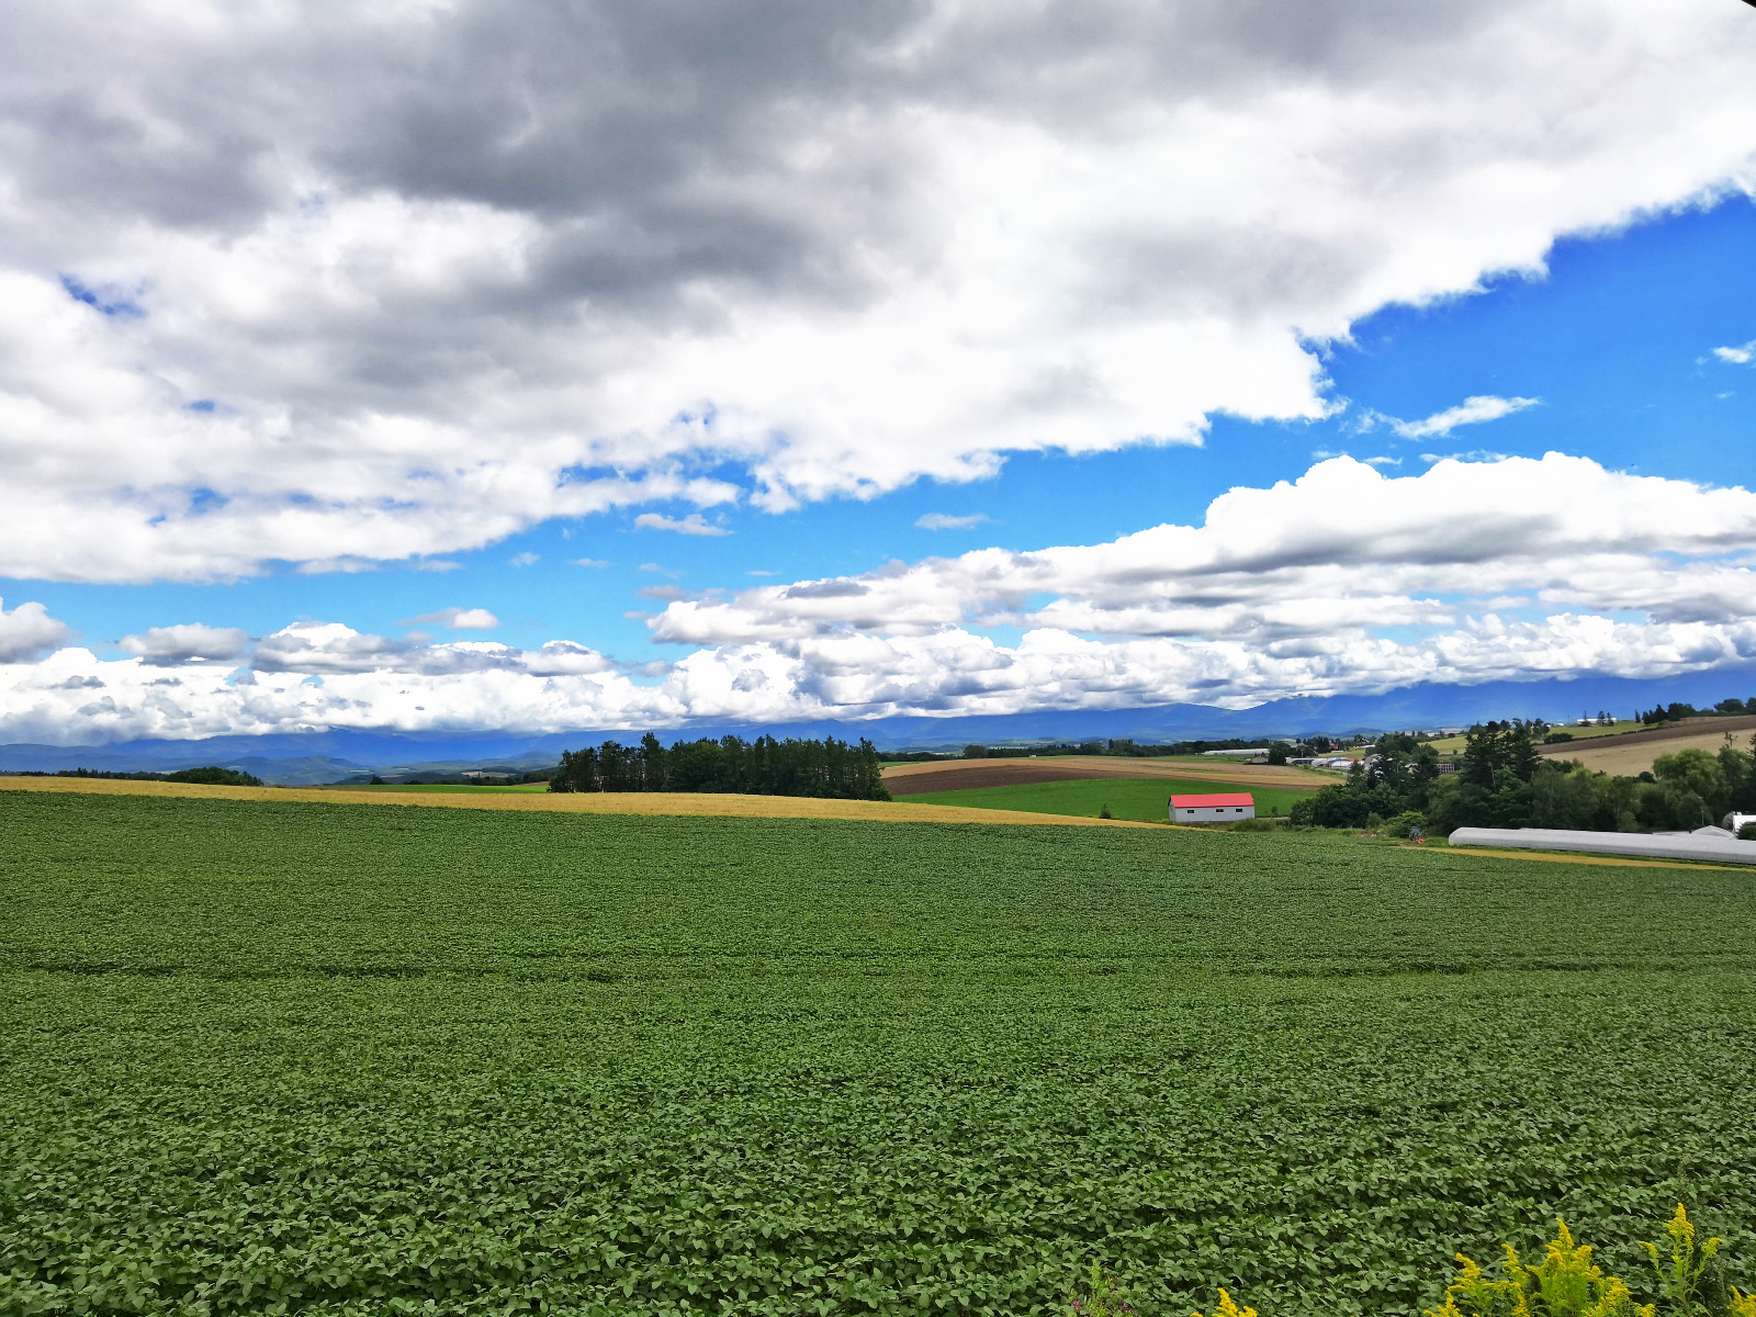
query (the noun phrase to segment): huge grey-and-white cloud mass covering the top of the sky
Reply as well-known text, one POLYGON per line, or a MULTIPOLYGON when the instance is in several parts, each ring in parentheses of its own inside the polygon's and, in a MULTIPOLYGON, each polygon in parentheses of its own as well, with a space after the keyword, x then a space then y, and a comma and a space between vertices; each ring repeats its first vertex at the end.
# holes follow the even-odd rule
POLYGON ((1752 40, 1721 0, 26 0, 0 576, 428 560, 1319 416, 1361 314, 1747 186, 1752 40))

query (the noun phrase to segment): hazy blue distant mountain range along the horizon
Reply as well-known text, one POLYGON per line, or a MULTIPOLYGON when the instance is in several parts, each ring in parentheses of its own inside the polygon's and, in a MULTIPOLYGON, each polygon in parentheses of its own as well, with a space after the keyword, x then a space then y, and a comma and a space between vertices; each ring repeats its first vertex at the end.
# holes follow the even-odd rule
MULTIPOLYGON (((1229 738, 1277 738, 1329 732, 1466 727, 1489 718, 1572 722, 1582 713, 1635 709, 1686 701, 1712 706, 1728 695, 1756 695, 1756 667, 1693 673, 1663 681, 1584 678, 1575 681, 1491 681, 1480 687, 1417 685, 1384 695, 1280 699, 1254 709, 1161 704, 1136 709, 1057 709, 968 718, 878 718, 783 725, 695 723, 658 729, 667 741, 699 736, 839 736, 871 738, 880 750, 952 750, 976 745, 1134 739, 1145 743, 1229 738)), ((632 732, 637 738, 639 730, 632 732)), ((105 746, 0 746, 0 771, 72 767, 112 773, 176 771, 218 764, 255 773, 277 785, 339 781, 362 773, 413 773, 464 767, 532 769, 553 764, 562 750, 604 738, 632 739, 627 729, 581 727, 574 732, 397 732, 346 730, 274 736, 216 736, 205 741, 121 741, 105 746)))

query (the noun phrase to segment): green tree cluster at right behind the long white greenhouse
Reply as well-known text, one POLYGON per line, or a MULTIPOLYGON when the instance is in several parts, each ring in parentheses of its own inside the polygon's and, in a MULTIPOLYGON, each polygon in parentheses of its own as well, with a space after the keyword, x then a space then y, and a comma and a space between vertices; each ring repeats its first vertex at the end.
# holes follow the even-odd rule
MULTIPOLYGON (((1347 781, 1324 787, 1289 811, 1317 827, 1565 827, 1593 832, 1695 829, 1728 813, 1756 813, 1756 755, 1726 745, 1717 753, 1659 755, 1651 773, 1617 778, 1577 760, 1544 759, 1542 722, 1489 722, 1470 729, 1456 773, 1438 755, 1396 732, 1347 781)), ((1756 746, 1752 746, 1756 748, 1756 746)))

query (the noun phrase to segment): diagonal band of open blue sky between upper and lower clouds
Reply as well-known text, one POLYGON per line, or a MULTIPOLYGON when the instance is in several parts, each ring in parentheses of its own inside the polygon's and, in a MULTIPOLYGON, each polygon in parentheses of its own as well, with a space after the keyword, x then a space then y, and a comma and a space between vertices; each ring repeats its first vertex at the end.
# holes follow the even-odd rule
MULTIPOLYGON (((1134 446, 1068 457, 1024 453, 997 476, 922 479, 860 500, 839 497, 771 515, 739 507, 723 537, 636 530, 634 511, 558 518, 478 551, 458 571, 386 565, 300 574, 281 567, 220 585, 0 581, 0 595, 40 599, 88 643, 116 641, 167 618, 267 634, 320 618, 369 632, 407 630, 444 608, 490 608, 493 637, 539 646, 588 637, 620 658, 674 658, 644 622, 641 590, 743 588, 871 571, 983 544, 1017 550, 1090 544, 1155 525, 1199 523, 1234 485, 1296 479, 1315 455, 1394 458, 1419 472, 1426 453, 1591 457, 1631 472, 1703 485, 1747 485, 1756 451, 1756 372, 1710 349, 1756 337, 1756 205, 1733 197, 1559 241, 1547 272, 1487 281, 1479 293, 1422 307, 1385 307, 1328 346, 1329 395, 1345 411, 1317 421, 1252 423, 1215 416, 1201 446, 1134 446), (1359 432, 1361 413, 1417 420, 1472 395, 1536 397, 1540 406, 1450 435, 1359 432), (931 513, 980 516, 925 530, 931 513), (520 565, 522 555, 537 562, 520 565), (579 558, 609 564, 579 567, 579 558)), ((1400 471, 1385 467, 1387 471, 1400 471)), ((723 472, 736 479, 736 472, 723 472)), ((688 506, 660 506, 674 516, 688 506)), ((1349 509, 1338 507, 1342 520, 1349 509)), ((718 518, 711 522, 718 525, 718 518)), ((423 625, 421 630, 443 632, 423 625)))

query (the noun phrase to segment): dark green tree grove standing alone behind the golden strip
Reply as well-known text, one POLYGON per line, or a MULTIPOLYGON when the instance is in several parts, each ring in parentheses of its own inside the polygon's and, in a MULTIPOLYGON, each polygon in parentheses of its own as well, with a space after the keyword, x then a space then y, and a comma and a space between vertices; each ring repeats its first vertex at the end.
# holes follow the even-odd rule
POLYGON ((822 795, 841 801, 889 801, 882 759, 871 741, 859 745, 778 741, 676 741, 660 745, 651 732, 639 745, 604 741, 565 750, 550 778, 551 792, 741 792, 746 795, 822 795))

